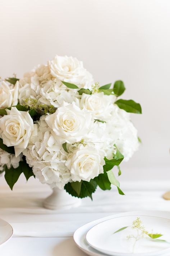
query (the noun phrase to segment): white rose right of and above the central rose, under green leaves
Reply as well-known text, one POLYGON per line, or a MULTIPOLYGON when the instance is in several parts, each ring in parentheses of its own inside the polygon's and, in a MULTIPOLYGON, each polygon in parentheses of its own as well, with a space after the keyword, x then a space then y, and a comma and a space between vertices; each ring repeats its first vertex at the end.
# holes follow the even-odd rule
POLYGON ((111 117, 112 105, 115 101, 114 95, 104 93, 82 94, 80 108, 89 111, 93 118, 106 121, 111 117))

